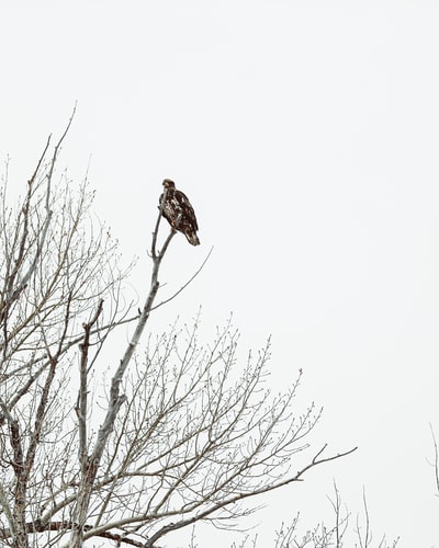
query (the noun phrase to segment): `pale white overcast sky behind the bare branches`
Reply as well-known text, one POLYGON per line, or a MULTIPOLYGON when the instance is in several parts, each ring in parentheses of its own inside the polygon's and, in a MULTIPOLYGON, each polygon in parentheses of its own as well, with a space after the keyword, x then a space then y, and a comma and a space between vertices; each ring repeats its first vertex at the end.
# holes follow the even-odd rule
POLYGON ((353 512, 365 487, 376 538, 439 547, 427 461, 429 422, 439 435, 438 28, 427 0, 0 8, 11 184, 78 100, 61 163, 79 180, 91 155, 97 213, 126 260, 140 256, 136 289, 164 178, 189 195, 202 242, 173 241, 169 286, 215 247, 158 323, 203 305, 207 327, 233 310, 245 345, 272 333, 273 385, 303 368, 303 401, 325 407, 316 443, 359 445, 270 494, 267 538, 297 510, 320 520, 335 478, 353 512))

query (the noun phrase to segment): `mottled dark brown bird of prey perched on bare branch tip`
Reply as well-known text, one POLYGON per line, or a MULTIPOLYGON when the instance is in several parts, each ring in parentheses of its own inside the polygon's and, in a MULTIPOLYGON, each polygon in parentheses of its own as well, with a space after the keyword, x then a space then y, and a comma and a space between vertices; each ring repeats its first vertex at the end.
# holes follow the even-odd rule
POLYGON ((161 215, 169 222, 173 230, 179 230, 192 246, 200 246, 196 231, 199 225, 193 212, 193 207, 188 196, 176 189, 176 183, 170 179, 164 181, 164 193, 159 198, 161 215))

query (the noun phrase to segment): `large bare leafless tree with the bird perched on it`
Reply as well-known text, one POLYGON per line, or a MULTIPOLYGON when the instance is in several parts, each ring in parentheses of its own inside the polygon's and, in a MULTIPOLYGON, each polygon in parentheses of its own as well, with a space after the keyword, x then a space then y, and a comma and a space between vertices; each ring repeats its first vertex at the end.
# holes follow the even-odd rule
POLYGON ((240 365, 230 322, 206 345, 195 320, 139 349, 151 311, 170 300, 155 305, 176 232, 158 247, 159 212, 150 284, 133 312, 116 244, 90 220, 87 181, 55 182, 70 123, 53 150, 47 141, 18 207, 7 181, 0 195, 1 543, 157 547, 200 521, 227 526, 259 494, 354 450, 311 452, 320 411, 295 411, 301 375, 272 393, 270 343, 240 365), (133 334, 116 358, 109 341, 121 324, 133 334))

